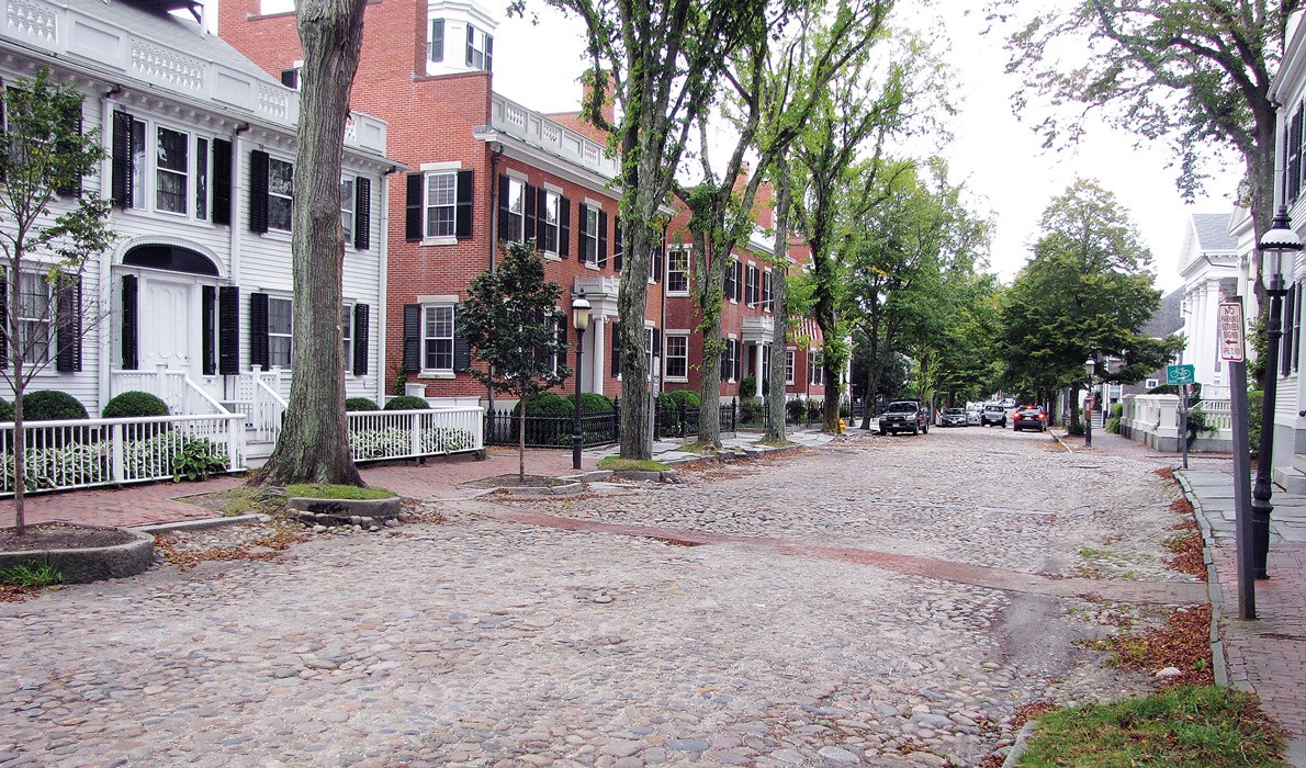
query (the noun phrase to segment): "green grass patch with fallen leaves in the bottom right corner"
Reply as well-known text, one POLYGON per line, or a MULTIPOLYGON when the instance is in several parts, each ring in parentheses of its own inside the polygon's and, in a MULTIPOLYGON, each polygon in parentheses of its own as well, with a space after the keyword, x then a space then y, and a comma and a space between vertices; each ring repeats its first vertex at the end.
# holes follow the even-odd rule
POLYGON ((1038 720, 1020 768, 1286 768, 1282 731, 1254 696, 1185 686, 1144 699, 1058 709, 1038 720))

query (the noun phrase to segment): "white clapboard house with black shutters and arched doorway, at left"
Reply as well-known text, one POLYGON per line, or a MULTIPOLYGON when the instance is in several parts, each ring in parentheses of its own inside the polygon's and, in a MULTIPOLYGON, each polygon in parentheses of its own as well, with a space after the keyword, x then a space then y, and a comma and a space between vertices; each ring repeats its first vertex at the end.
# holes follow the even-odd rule
MULTIPOLYGON (((44 330, 51 364, 30 389, 68 392, 91 417, 133 389, 161 396, 174 414, 244 413, 247 458, 257 460, 274 440, 295 366, 299 94, 204 31, 199 5, 0 3, 0 78, 48 68, 85 93, 82 127, 101 129, 108 159, 82 191, 112 199, 118 235, 81 283, 84 304, 104 319, 80 340, 44 330)), ((384 212, 394 170, 385 124, 354 114, 341 179, 345 387, 374 400, 385 379, 384 212)))

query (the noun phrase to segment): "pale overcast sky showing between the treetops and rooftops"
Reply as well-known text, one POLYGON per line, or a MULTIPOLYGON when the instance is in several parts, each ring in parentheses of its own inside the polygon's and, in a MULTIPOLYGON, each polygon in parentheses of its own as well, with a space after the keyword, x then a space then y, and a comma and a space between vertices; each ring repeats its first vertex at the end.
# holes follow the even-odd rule
MULTIPOLYGON (((1130 212, 1152 249, 1157 286, 1177 287, 1178 251, 1188 214, 1230 212, 1241 167, 1209 168, 1216 180, 1208 196, 1186 208, 1175 191, 1174 168, 1166 167, 1170 154, 1164 145, 1136 149, 1132 135, 1094 120, 1077 149, 1042 150, 1029 127, 1037 120, 1020 121, 1011 114, 1010 97, 1020 84, 1003 72, 1007 52, 1000 38, 981 34, 986 26, 982 13, 959 13, 963 1, 935 3, 932 9, 946 14, 935 21, 942 20, 951 39, 944 50, 960 89, 953 138, 938 152, 948 159, 953 183, 964 182, 970 191, 973 208, 993 212, 991 270, 1010 281, 1038 239, 1043 208, 1076 176, 1085 176, 1115 193, 1130 212)), ((530 8, 538 26, 505 18, 495 34, 495 90, 542 112, 579 110, 579 77, 586 67, 581 26, 543 3, 530 8)))

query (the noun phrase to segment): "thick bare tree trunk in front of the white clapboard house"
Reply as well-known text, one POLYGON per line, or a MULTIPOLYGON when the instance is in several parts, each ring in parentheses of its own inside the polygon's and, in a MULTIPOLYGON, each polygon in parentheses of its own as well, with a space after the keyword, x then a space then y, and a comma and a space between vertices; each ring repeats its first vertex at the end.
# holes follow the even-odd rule
POLYGON ((253 482, 363 485, 349 451, 341 351, 340 168, 366 0, 299 0, 299 95, 293 219, 294 377, 277 447, 253 482))

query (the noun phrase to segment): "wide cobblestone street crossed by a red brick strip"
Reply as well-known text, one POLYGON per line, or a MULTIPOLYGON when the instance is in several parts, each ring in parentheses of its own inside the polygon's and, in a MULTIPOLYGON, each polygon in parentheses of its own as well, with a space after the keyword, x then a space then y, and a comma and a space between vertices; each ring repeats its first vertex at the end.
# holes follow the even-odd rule
POLYGON ((0 603, 0 767, 982 765, 1151 688, 1077 640, 1203 600, 1155 469, 861 435, 47 590, 0 603))

